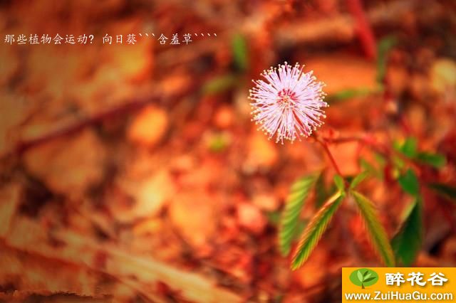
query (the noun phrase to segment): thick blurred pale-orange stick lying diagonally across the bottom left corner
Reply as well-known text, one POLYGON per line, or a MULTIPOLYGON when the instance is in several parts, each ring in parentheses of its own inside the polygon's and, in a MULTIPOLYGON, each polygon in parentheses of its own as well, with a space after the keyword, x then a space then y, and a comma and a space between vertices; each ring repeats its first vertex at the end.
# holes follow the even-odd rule
POLYGON ((202 275, 179 270, 151 257, 135 255, 115 245, 96 243, 72 230, 44 230, 23 216, 15 216, 4 240, 11 248, 106 273, 138 289, 152 302, 157 302, 154 289, 158 282, 192 302, 242 302, 239 294, 218 287, 216 282, 202 275), (24 238, 24 235, 27 236, 24 238), (59 243, 58 247, 53 243, 59 243))

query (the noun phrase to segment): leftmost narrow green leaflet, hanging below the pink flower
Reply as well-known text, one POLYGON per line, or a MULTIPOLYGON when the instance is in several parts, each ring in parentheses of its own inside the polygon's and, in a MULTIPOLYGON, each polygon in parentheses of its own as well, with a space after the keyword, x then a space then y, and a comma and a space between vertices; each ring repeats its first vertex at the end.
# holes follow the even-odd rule
POLYGON ((285 201, 285 209, 279 223, 279 250, 282 255, 290 252, 291 241, 294 240, 299 214, 304 206, 304 200, 314 186, 318 174, 304 176, 290 188, 289 196, 285 201))

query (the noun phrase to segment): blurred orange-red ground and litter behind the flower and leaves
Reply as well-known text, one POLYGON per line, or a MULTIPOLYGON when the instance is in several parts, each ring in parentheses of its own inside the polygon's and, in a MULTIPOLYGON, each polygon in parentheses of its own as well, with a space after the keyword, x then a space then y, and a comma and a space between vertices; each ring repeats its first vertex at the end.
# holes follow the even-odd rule
MULTIPOLYGON (((378 259, 352 211, 300 270, 279 255, 289 186, 334 171, 312 140, 257 132, 251 80, 306 65, 331 105, 321 133, 417 137, 447 159, 421 177, 456 184, 455 3, 363 1, 363 23, 353 2, 1 1, 0 300, 340 302, 341 267, 378 259), (46 33, 93 41, 6 42, 46 33)), ((350 176, 375 158, 358 142, 331 151, 350 176)), ((363 186, 393 235, 410 198, 388 182, 363 186)), ((415 267, 455 266, 455 204, 425 201, 415 267)))

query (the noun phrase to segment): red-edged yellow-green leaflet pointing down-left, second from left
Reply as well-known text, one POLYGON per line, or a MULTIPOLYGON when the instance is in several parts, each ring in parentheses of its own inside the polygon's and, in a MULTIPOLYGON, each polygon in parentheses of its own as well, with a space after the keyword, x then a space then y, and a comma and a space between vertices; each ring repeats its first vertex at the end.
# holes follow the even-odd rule
POLYGON ((291 262, 292 270, 297 270, 309 258, 343 198, 345 195, 340 191, 331 196, 306 226, 291 262))

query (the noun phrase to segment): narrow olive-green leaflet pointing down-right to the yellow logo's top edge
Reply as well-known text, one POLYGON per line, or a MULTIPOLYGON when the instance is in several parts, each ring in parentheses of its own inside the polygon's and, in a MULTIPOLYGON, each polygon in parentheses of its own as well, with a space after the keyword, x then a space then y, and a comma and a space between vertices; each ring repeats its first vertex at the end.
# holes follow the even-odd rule
POLYGON ((378 213, 375 210, 373 203, 357 191, 352 191, 353 198, 355 198, 358 208, 366 222, 366 227, 371 235, 373 247, 378 252, 378 255, 382 258, 383 262, 388 267, 394 266, 394 255, 391 249, 388 236, 386 235, 385 228, 380 224, 378 220, 378 213))

